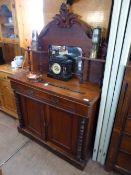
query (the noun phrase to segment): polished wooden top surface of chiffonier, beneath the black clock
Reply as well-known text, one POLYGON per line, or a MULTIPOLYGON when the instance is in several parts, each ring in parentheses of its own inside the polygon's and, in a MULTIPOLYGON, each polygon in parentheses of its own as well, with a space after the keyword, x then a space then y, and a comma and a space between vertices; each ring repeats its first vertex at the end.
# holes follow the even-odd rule
POLYGON ((12 81, 19 82, 29 87, 39 89, 45 93, 50 93, 56 96, 62 96, 69 100, 77 101, 83 104, 92 104, 100 97, 100 88, 91 83, 80 84, 79 80, 72 78, 64 82, 61 80, 53 79, 43 75, 42 82, 35 82, 27 79, 27 71, 19 72, 11 75, 9 78, 12 81), (48 85, 47 85, 48 83, 48 85))

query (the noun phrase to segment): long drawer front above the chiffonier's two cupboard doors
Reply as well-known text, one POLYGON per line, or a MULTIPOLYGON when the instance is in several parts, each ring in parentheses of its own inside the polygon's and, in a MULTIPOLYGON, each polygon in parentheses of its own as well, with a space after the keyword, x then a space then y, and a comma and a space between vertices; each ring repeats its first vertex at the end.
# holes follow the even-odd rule
POLYGON ((37 89, 33 89, 31 87, 27 87, 20 84, 14 84, 14 85, 12 84, 12 87, 17 92, 20 92, 22 94, 28 95, 30 97, 36 97, 38 99, 42 99, 44 101, 47 101, 48 103, 56 105, 57 107, 67 109, 71 112, 76 112, 78 115, 87 116, 88 107, 86 105, 74 103, 64 98, 50 95, 42 91, 39 91, 37 89))

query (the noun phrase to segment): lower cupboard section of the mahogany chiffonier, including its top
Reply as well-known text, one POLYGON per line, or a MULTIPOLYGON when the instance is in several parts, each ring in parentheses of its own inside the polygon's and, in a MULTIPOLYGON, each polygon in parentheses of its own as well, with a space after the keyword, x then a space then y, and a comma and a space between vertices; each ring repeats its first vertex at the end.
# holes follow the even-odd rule
POLYGON ((49 85, 44 86, 43 81, 29 81, 26 75, 23 71, 10 76, 21 111, 19 131, 78 168, 84 168, 93 148, 100 88, 91 83, 80 84, 75 78, 63 82, 66 88, 62 88, 58 86, 61 81, 46 75, 43 80, 49 85))

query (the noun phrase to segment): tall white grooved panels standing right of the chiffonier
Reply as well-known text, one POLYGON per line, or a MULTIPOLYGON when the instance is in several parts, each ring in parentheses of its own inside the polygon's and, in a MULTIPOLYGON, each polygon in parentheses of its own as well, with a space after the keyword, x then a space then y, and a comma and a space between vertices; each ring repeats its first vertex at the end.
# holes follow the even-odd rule
POLYGON ((131 44, 130 0, 114 0, 93 160, 105 163, 131 44), (130 13, 129 13, 130 11, 130 13))

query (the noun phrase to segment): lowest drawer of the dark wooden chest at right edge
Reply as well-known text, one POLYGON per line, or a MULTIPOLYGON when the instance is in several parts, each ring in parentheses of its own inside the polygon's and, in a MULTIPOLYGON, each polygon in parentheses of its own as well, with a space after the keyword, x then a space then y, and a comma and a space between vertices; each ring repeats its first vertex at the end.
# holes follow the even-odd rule
POLYGON ((123 152, 119 152, 116 165, 131 173, 131 156, 123 152))

